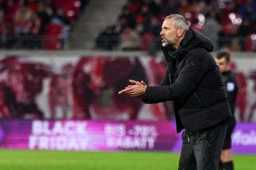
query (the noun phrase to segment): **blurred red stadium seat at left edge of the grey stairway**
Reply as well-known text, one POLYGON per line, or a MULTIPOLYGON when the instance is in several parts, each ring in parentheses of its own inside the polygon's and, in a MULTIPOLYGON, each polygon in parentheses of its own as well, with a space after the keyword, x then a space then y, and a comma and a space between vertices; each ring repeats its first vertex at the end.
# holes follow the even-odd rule
POLYGON ((62 47, 62 26, 49 24, 44 36, 43 47, 47 50, 59 50, 62 47))

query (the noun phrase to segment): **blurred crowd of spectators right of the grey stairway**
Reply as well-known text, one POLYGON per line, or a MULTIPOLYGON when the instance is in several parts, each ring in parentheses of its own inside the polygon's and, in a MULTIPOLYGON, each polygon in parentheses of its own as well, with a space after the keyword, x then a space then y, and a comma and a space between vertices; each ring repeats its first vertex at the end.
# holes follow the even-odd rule
POLYGON ((96 47, 157 50, 161 45, 159 33, 163 18, 170 14, 184 16, 190 28, 209 37, 216 50, 256 49, 254 0, 127 0, 116 23, 98 35, 96 47))

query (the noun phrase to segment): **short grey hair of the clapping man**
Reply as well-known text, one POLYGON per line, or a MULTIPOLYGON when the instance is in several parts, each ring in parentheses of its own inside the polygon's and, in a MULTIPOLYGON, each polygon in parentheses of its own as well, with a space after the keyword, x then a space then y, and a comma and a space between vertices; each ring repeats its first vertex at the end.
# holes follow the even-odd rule
POLYGON ((186 20, 186 18, 184 16, 181 16, 179 14, 172 14, 172 15, 169 15, 169 16, 166 16, 164 18, 164 20, 168 20, 168 19, 171 19, 173 18, 173 21, 172 21, 172 25, 178 29, 178 28, 183 28, 184 29, 184 33, 186 34, 186 32, 188 31, 188 21, 186 20))

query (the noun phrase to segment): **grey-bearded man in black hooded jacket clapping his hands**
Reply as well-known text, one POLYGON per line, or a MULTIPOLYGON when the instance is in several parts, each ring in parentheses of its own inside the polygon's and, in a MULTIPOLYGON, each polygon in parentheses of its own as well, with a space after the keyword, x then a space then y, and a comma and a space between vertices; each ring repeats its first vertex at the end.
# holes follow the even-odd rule
POLYGON ((130 80, 118 92, 146 104, 172 100, 177 133, 182 133, 179 170, 218 170, 231 111, 220 69, 209 52, 210 40, 188 29, 183 16, 167 16, 162 24, 162 51, 168 63, 159 86, 130 80))

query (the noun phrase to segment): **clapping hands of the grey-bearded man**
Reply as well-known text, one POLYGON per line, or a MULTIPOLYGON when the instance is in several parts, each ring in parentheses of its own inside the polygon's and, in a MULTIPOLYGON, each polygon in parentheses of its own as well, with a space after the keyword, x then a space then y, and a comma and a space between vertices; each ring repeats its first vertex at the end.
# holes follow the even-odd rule
POLYGON ((134 80, 129 80, 129 82, 134 85, 127 86, 124 90, 118 92, 118 94, 123 94, 124 96, 136 97, 140 99, 146 98, 145 92, 147 86, 143 81, 141 81, 140 83, 134 80))

